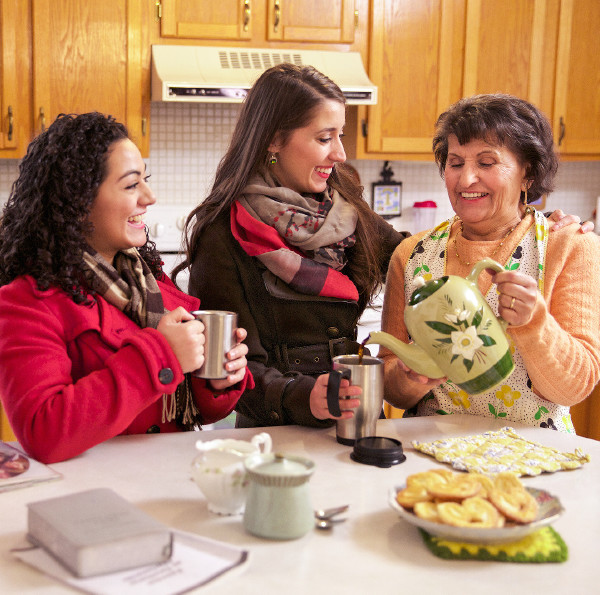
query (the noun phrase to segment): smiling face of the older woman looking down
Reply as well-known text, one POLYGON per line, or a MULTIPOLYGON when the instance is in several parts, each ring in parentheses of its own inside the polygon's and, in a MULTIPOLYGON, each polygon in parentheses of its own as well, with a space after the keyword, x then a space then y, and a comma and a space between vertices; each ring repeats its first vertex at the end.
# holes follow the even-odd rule
POLYGON ((462 219, 467 238, 469 234, 469 239, 501 237, 520 219, 526 166, 506 146, 481 139, 461 145, 451 134, 444 179, 452 208, 462 219))

